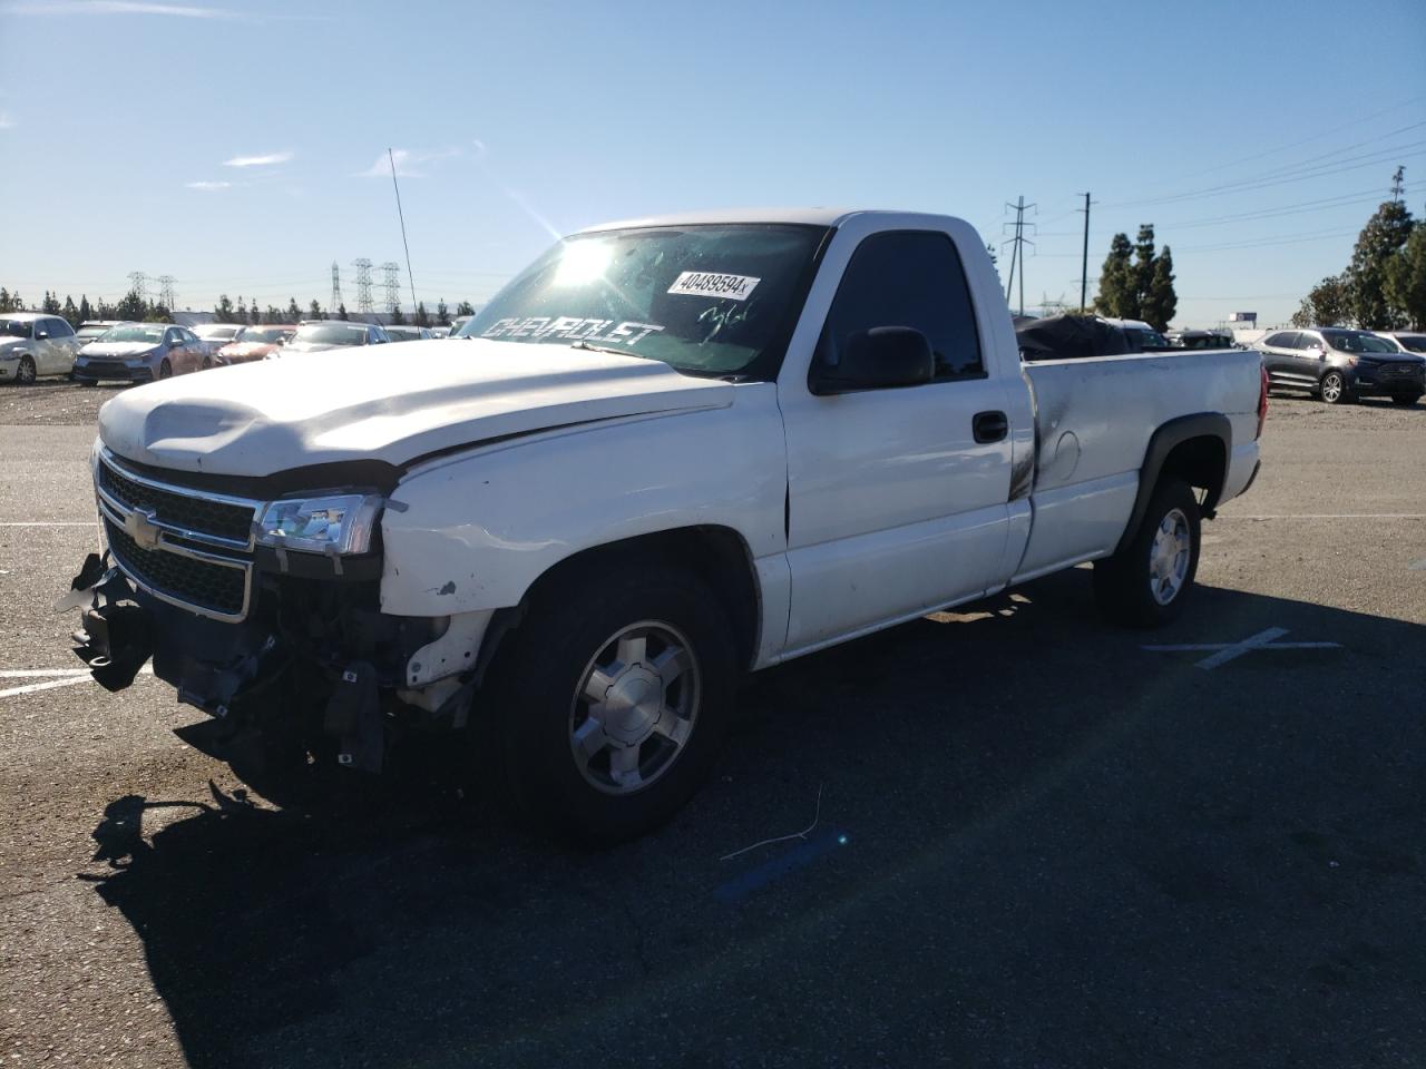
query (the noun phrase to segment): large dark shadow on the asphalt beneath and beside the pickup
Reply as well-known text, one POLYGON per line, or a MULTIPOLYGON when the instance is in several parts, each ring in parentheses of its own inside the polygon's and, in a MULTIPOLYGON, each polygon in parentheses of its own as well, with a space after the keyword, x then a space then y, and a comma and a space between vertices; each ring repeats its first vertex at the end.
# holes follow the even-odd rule
POLYGON ((714 781, 613 851, 408 770, 118 798, 81 878, 194 1066, 1410 1060, 1423 653, 1211 587, 1117 631, 1071 572, 756 677, 714 781), (1340 649, 1142 649, 1272 627, 1340 649))

